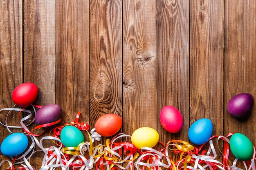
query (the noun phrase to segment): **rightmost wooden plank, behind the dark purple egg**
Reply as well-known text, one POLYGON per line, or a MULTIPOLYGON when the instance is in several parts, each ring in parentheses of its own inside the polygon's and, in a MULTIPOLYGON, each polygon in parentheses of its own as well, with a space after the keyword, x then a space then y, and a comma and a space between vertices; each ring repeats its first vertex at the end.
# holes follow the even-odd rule
MULTIPOLYGON (((256 99, 256 2, 225 0, 225 134, 240 132, 255 145, 256 110, 241 119, 227 112, 229 100, 239 93, 256 99)), ((234 160, 234 159, 232 159, 234 160)), ((241 163, 242 164, 242 163, 241 163)), ((243 167, 243 165, 242 165, 243 167)))

